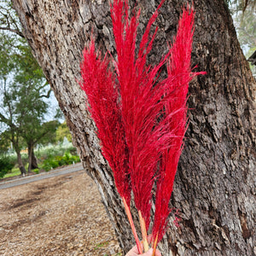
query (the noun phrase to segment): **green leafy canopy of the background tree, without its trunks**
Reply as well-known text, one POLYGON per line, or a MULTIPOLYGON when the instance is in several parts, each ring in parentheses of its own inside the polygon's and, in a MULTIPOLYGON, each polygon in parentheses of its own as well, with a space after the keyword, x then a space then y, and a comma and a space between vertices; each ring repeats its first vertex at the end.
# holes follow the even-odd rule
POLYGON ((45 93, 44 77, 32 57, 26 41, 0 33, 0 123, 3 140, 13 144, 16 153, 22 147, 22 133, 35 135, 47 105, 40 98, 45 93), (42 89, 41 89, 42 88, 42 89))

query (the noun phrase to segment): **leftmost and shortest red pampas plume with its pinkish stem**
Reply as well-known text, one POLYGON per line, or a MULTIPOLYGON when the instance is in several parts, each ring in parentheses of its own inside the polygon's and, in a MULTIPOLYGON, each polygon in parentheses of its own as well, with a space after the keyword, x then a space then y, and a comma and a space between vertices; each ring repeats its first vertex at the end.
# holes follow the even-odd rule
POLYGON ((93 40, 90 47, 84 49, 83 57, 80 66, 82 74, 80 86, 86 93, 88 109, 96 123, 97 136, 102 144, 102 154, 113 170, 116 188, 124 202, 125 212, 131 224, 138 250, 142 253, 130 211, 129 155, 119 106, 118 84, 115 84, 115 75, 108 68, 107 55, 102 59, 100 53, 96 52, 93 40))

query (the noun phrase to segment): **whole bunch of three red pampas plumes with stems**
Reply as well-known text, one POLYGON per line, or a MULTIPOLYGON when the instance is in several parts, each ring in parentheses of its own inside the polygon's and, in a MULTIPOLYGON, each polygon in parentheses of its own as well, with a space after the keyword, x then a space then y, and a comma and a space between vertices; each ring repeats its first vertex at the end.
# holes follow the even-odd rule
POLYGON ((109 56, 102 58, 96 52, 93 40, 90 47, 84 49, 81 63, 80 85, 86 93, 88 108, 102 144, 102 154, 113 170, 139 253, 143 252, 131 218, 131 190, 139 214, 143 247, 148 251, 152 188, 156 183, 155 253, 166 232, 171 212, 169 201, 188 120, 189 81, 200 74, 191 73, 190 68, 194 11, 189 7, 183 9, 177 37, 168 53, 158 65, 147 64, 157 32, 157 28, 151 32, 152 25, 164 2, 160 2, 148 20, 137 49, 140 10, 131 10, 128 0, 114 0, 110 5, 117 52, 117 60, 111 59, 114 72, 109 68, 109 56), (164 65, 167 78, 160 80, 160 69, 164 65))

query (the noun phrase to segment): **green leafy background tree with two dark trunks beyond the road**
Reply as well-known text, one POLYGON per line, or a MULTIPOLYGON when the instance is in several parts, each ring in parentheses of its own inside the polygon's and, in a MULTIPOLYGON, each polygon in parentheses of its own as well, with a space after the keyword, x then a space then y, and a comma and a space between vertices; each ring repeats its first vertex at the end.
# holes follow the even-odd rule
POLYGON ((44 101, 44 98, 49 98, 49 84, 23 38, 1 33, 0 41, 3 46, 0 50, 3 97, 0 122, 5 124, 3 131, 9 131, 6 140, 13 143, 21 173, 26 171, 20 155, 20 140, 25 141, 30 172, 38 168, 34 155, 35 144, 55 131, 57 125, 55 122, 43 125, 49 107, 49 103, 44 101))

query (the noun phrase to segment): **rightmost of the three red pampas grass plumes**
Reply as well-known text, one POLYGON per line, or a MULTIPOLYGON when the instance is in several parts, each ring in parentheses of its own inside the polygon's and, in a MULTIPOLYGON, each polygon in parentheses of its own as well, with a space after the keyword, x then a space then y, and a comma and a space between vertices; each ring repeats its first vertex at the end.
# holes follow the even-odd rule
POLYGON ((166 232, 166 224, 169 213, 169 201, 172 195, 174 177, 177 172, 177 163, 183 149, 183 137, 187 124, 187 94, 189 81, 195 75, 203 73, 191 73, 190 56, 194 34, 194 11, 193 9, 183 9, 183 15, 178 22, 177 36, 170 49, 170 56, 167 61, 169 84, 166 93, 172 91, 172 99, 165 104, 165 114, 172 114, 169 121, 169 131, 172 137, 169 146, 162 154, 160 160, 160 171, 157 179, 157 189, 155 198, 153 241, 154 251, 157 243, 166 232))

